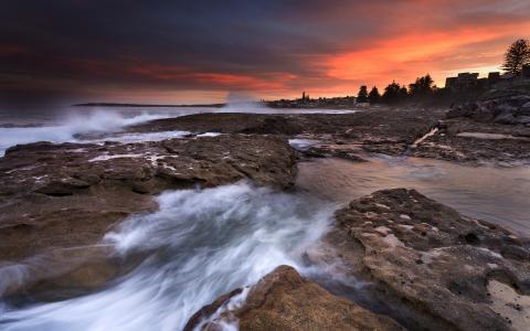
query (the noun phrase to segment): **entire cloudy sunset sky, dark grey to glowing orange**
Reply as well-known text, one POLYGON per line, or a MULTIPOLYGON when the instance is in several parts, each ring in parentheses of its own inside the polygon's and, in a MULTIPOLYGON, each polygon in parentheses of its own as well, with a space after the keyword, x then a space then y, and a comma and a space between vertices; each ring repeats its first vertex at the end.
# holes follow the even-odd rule
POLYGON ((528 0, 3 0, 0 106, 356 95, 498 71, 528 0))

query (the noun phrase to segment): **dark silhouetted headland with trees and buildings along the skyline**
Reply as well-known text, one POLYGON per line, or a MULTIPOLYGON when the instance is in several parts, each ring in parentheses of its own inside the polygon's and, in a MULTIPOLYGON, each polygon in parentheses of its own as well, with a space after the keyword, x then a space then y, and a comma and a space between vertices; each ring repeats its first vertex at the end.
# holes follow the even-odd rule
MULTIPOLYGON (((272 108, 352 108, 377 104, 421 104, 433 106, 448 106, 456 103, 470 102, 492 88, 506 88, 511 85, 522 85, 530 88, 530 42, 517 40, 507 50, 505 61, 500 65, 504 73, 490 72, 487 77, 479 77, 479 73, 458 73, 455 77, 447 77, 444 87, 437 87, 430 74, 417 77, 409 85, 398 82, 390 83, 383 90, 372 86, 369 90, 362 85, 359 92, 340 97, 311 98, 306 92, 300 98, 264 100, 261 103, 272 108)), ((85 103, 74 106, 88 107, 223 107, 226 104, 209 105, 146 105, 124 103, 85 103)))

